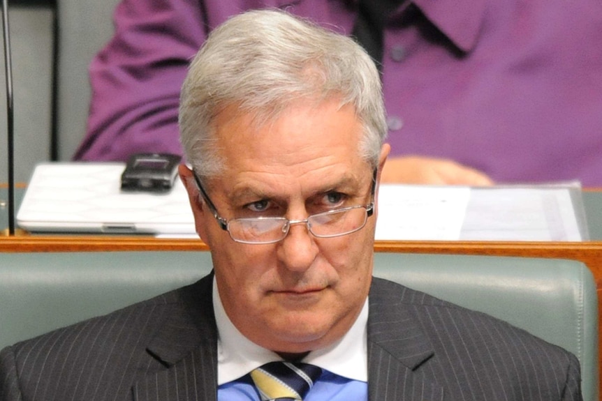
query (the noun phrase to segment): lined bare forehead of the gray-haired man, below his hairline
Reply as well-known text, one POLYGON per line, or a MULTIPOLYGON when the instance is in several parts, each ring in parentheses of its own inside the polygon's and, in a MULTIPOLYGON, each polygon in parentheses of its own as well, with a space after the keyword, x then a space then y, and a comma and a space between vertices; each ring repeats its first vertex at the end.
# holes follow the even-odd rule
POLYGON ((254 158, 285 167, 316 158, 355 161, 363 131, 353 107, 327 101, 296 103, 270 119, 231 106, 217 116, 214 132, 228 164, 254 158))

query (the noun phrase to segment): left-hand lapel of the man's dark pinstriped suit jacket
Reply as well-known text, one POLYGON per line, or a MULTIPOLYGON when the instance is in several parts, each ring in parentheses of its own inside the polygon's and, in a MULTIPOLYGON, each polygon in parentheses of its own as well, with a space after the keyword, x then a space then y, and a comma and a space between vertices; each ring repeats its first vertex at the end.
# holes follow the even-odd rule
POLYGON ((133 385, 136 401, 217 399, 217 329, 209 275, 186 287, 178 307, 147 347, 166 366, 133 385))

